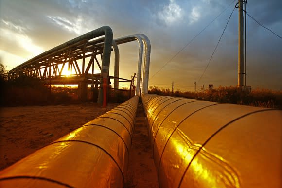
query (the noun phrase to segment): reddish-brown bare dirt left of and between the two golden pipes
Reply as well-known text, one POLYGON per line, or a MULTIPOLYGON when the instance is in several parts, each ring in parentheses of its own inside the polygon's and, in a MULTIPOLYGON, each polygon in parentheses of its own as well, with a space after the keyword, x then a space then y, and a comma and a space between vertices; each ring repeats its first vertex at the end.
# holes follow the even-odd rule
MULTIPOLYGON (((0 108, 0 170, 104 114, 95 103, 0 108)), ((152 150, 139 104, 127 171, 127 188, 158 188, 152 150)))

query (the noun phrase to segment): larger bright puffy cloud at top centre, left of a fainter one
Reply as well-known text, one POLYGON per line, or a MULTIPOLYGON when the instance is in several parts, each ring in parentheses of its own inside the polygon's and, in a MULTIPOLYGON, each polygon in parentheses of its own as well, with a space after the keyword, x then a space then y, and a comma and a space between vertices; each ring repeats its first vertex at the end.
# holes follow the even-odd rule
POLYGON ((159 19, 168 25, 181 20, 182 16, 182 9, 174 0, 170 0, 170 3, 158 13, 159 19))

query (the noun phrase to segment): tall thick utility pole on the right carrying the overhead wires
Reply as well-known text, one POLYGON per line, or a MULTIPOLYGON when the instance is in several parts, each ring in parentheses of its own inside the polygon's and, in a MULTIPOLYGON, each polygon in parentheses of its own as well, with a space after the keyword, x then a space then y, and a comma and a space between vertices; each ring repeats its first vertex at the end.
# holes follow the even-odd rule
POLYGON ((239 25, 238 25, 238 86, 244 85, 244 37, 243 37, 243 0, 238 0, 239 25))

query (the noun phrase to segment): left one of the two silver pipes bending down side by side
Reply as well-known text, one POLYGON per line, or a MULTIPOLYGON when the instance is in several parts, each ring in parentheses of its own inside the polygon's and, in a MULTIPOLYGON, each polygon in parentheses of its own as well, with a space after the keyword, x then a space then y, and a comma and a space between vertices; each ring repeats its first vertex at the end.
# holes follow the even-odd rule
POLYGON ((135 95, 139 96, 140 86, 141 86, 141 69, 142 69, 142 58, 143 58, 143 41, 140 34, 134 34, 129 36, 124 36, 121 38, 117 38, 116 41, 118 44, 123 44, 127 42, 131 42, 133 40, 137 40, 139 44, 139 54, 138 54, 138 66, 137 66, 137 78, 136 78, 136 90, 135 95))

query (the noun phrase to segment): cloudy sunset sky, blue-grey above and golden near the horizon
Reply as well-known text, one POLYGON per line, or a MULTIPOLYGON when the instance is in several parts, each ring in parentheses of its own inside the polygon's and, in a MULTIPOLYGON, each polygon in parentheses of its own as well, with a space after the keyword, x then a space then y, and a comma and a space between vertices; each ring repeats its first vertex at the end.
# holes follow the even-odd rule
MULTIPOLYGON (((193 91, 194 82, 197 90, 209 84, 235 86, 238 9, 234 10, 203 74, 237 2, 232 1, 0 0, 0 62, 12 69, 44 51, 107 25, 112 28, 114 38, 138 33, 148 36, 151 41, 149 85, 171 89, 174 82, 174 89, 180 91, 193 91), (225 8, 223 14, 177 54, 225 8)), ((281 10, 281 0, 247 1, 247 13, 280 36, 281 10)), ((248 16, 246 28, 247 85, 253 89, 282 90, 282 39, 248 16)), ((119 45, 120 77, 129 79, 137 72, 138 49, 137 42, 119 45)), ((112 53, 111 65, 113 59, 112 53)), ((110 75, 113 75, 113 66, 110 75)))

